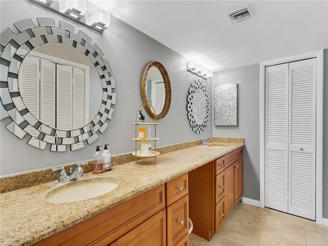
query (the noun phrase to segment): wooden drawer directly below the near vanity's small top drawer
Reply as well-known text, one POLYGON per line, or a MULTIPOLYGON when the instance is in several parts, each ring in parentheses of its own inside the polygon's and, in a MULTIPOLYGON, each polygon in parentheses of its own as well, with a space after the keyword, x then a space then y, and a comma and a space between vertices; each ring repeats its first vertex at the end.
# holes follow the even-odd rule
POLYGON ((189 196, 186 195, 167 208, 168 246, 175 245, 189 231, 189 196))

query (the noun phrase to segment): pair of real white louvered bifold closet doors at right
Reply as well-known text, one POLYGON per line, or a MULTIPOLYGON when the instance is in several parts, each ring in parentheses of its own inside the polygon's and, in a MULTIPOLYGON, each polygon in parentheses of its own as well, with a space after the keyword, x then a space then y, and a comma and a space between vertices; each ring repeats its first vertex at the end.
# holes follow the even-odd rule
POLYGON ((265 206, 316 215, 316 59, 265 68, 265 206))

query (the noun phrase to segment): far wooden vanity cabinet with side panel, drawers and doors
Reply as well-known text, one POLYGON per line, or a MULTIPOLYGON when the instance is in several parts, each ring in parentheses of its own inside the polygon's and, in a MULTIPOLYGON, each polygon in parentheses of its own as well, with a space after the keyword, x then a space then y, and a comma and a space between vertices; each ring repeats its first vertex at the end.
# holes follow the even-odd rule
POLYGON ((242 148, 189 172, 193 233, 211 240, 242 197, 242 148))

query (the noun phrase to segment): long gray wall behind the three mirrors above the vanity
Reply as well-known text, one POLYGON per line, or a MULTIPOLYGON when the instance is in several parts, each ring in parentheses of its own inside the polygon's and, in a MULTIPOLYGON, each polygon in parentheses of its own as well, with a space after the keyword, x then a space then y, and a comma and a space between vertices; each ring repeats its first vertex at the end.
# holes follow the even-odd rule
MULTIPOLYGON (((6 129, 9 119, 1 121, 2 176, 90 159, 94 155, 96 145, 110 144, 113 155, 132 152, 134 127, 131 123, 135 120, 135 112, 141 100, 141 72, 151 60, 160 61, 166 67, 172 87, 170 111, 165 118, 158 120, 160 125, 157 128, 157 136, 161 138, 158 145, 165 146, 212 136, 211 118, 202 134, 195 134, 189 126, 187 95, 191 83, 199 77, 186 71, 187 60, 180 54, 113 16, 110 27, 101 34, 33 2, 1 1, 0 4, 1 31, 6 27, 15 30, 13 23, 25 18, 32 18, 36 24, 36 17, 52 17, 57 24, 59 20, 64 20, 74 25, 76 30, 87 33, 110 61, 117 86, 117 103, 108 129, 104 134, 99 134, 93 144, 77 151, 54 153, 49 151, 49 146, 47 150, 38 150, 26 143, 28 137, 19 140, 6 129)), ((210 91, 211 81, 205 81, 205 84, 210 91)), ((145 110, 143 113, 146 119, 150 120, 145 110)))

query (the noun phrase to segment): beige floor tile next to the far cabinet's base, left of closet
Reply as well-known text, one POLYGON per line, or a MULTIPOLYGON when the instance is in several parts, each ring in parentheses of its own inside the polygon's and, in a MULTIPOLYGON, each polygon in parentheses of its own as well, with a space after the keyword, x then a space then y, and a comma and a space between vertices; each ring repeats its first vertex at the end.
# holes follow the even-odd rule
POLYGON ((266 215, 263 213, 253 212, 250 210, 235 209, 230 215, 229 219, 248 226, 261 230, 265 221, 266 215))

